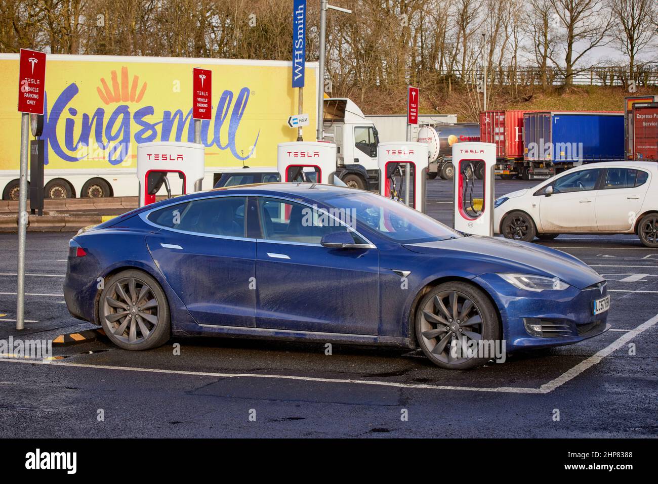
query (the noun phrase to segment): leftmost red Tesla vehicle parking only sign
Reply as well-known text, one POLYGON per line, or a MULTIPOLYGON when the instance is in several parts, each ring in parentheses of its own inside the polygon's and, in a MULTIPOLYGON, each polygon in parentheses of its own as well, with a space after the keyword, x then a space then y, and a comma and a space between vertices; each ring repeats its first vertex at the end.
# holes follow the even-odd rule
POLYGON ((18 111, 43 114, 45 53, 20 49, 18 68, 18 111))

